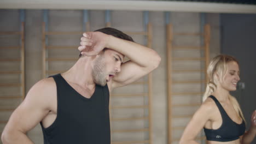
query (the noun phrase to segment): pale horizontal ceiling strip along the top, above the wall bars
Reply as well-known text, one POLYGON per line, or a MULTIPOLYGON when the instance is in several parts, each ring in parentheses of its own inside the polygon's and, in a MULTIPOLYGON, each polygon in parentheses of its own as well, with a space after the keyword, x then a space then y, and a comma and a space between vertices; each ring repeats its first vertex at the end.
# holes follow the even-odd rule
POLYGON ((0 9, 88 9, 256 13, 256 5, 181 1, 0 0, 0 9))

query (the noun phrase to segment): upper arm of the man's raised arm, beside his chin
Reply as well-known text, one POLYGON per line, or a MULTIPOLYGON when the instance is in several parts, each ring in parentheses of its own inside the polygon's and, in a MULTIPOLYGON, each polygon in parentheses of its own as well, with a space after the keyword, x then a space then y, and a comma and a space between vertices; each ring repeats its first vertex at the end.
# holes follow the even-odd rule
POLYGON ((114 77, 112 88, 128 85, 135 82, 150 72, 145 67, 141 67, 132 61, 127 61, 121 66, 120 73, 114 77))

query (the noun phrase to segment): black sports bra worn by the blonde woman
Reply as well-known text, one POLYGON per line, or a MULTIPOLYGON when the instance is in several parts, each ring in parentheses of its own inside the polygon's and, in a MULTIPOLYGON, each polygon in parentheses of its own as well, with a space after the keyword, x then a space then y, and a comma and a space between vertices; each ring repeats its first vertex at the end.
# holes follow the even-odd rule
POLYGON ((239 136, 245 133, 245 122, 242 121, 241 124, 237 124, 228 116, 228 114, 223 109, 222 105, 219 101, 211 95, 216 105, 218 106, 220 115, 222 115, 222 125, 218 129, 206 129, 203 128, 205 131, 206 139, 208 141, 234 141, 239 139, 239 136))

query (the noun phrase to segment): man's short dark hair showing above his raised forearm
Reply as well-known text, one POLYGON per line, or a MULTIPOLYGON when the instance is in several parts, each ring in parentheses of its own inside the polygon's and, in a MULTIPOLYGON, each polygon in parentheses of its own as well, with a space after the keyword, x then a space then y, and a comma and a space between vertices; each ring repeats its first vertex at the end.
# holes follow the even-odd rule
MULTIPOLYGON (((120 39, 129 40, 129 41, 133 42, 133 39, 129 35, 119 31, 118 29, 112 28, 112 27, 104 27, 101 29, 97 29, 94 32, 102 32, 105 34, 113 35, 114 37, 117 37, 120 39)), ((80 53, 79 57, 81 57, 81 56, 82 56, 82 54, 80 53)))

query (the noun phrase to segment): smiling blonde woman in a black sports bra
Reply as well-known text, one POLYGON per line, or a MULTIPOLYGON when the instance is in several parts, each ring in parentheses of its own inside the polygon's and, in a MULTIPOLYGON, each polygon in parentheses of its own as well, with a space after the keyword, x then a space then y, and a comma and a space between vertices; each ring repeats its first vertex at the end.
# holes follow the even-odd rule
POLYGON ((245 132, 245 118, 230 91, 236 90, 239 77, 238 62, 234 57, 218 55, 207 69, 210 79, 203 95, 203 103, 185 128, 180 144, 196 144, 195 138, 202 129, 208 144, 247 144, 256 135, 256 111, 251 127, 245 132))

